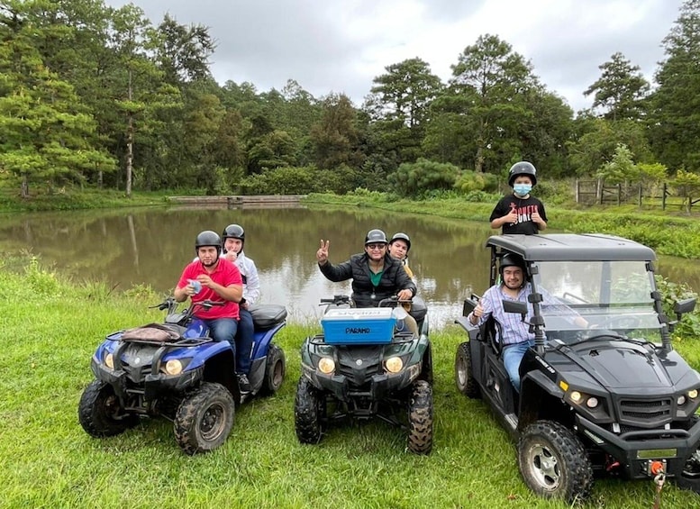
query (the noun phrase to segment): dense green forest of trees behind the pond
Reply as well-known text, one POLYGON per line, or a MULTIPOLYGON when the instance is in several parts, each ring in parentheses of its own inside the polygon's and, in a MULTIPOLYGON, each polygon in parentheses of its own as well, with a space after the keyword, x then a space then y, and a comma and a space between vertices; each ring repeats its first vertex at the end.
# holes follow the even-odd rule
POLYGON ((700 0, 663 41, 654 82, 622 53, 573 112, 492 34, 444 83, 418 57, 387 65, 362 105, 293 79, 261 92, 212 77, 207 27, 102 0, 0 2, 0 177, 36 189, 397 195, 493 188, 528 159, 550 179, 700 188, 700 0))

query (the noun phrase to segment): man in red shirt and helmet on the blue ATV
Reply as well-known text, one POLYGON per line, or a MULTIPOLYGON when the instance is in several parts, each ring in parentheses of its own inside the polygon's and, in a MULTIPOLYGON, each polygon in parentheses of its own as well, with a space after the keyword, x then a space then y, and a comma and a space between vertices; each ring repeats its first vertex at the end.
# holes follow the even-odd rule
POLYGON ((209 327, 214 341, 229 341, 235 352, 233 337, 238 327, 238 302, 243 296, 241 271, 227 259, 221 259, 219 234, 206 230, 195 239, 197 258, 182 271, 173 295, 177 302, 189 297, 193 304, 205 300, 223 302, 210 309, 195 306, 195 317, 209 327))

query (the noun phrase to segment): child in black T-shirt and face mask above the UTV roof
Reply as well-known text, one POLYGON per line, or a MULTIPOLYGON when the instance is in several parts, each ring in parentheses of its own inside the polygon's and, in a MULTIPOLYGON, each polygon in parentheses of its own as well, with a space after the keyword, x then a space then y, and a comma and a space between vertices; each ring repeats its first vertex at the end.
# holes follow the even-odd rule
POLYGON ((508 172, 508 185, 513 194, 504 196, 495 205, 489 221, 491 228, 501 228, 504 235, 535 235, 547 228, 544 204, 530 195, 537 184, 537 170, 528 161, 516 162, 508 172))

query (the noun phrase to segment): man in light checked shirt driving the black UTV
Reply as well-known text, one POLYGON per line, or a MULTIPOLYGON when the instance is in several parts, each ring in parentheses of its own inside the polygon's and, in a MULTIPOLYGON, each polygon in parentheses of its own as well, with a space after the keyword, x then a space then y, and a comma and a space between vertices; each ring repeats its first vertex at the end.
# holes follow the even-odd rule
MULTIPOLYGON (((501 358, 505 370, 511 379, 517 392, 520 392, 520 362, 525 352, 534 346, 535 335, 530 331, 532 321, 532 305, 528 305, 528 315, 524 320, 520 314, 505 313, 504 300, 518 301, 527 304, 528 297, 532 294, 532 284, 527 280, 527 266, 523 258, 514 253, 505 253, 501 257, 498 273, 500 283, 496 283, 486 290, 479 299, 474 310, 467 315, 469 323, 480 326, 486 322, 489 316, 500 325, 500 338, 498 341, 503 348, 501 358)), ((575 316, 573 321, 582 327, 587 327, 586 320, 576 312, 562 305, 544 289, 539 288, 541 304, 555 305, 563 308, 564 315, 575 316)))

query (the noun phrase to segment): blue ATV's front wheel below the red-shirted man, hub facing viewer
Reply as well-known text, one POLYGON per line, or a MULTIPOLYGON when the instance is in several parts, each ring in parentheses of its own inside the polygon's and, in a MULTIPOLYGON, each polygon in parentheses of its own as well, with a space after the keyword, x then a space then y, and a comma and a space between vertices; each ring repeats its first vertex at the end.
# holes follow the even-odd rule
POLYGON ((214 450, 229 436, 235 413, 233 396, 221 384, 205 382, 177 407, 175 440, 186 454, 214 450))

